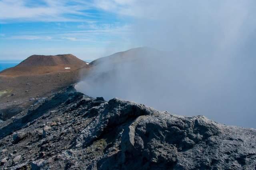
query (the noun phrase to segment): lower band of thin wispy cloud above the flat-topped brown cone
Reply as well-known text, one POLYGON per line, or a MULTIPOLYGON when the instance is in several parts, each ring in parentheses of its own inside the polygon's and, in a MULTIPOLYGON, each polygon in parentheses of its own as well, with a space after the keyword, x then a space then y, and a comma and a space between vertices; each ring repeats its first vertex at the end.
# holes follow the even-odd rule
POLYGON ((5 36, 6 39, 19 40, 51 40, 51 41, 86 41, 86 42, 115 42, 117 38, 127 39, 131 35, 130 25, 121 24, 97 24, 88 25, 90 29, 61 30, 49 32, 19 32, 13 36, 5 36), (105 39, 105 40, 104 40, 105 39), (108 39, 108 40, 106 40, 108 39))

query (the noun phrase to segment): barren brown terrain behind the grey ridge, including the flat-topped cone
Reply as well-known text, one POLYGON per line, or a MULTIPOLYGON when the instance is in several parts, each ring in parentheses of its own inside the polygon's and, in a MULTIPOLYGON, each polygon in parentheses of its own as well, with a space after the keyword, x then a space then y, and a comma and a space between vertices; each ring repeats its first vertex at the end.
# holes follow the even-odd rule
MULTIPOLYGON (((78 82, 87 63, 75 56, 30 56, 0 72, 0 120, 7 120, 34 102, 78 82), (70 69, 64 69, 64 67, 70 69)), ((86 71, 85 71, 86 72, 86 71)))

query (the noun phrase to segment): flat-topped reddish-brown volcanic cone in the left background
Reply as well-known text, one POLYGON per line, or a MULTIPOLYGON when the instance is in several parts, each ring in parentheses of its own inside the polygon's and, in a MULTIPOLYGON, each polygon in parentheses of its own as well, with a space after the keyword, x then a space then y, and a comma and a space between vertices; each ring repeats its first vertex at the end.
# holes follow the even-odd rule
POLYGON ((1 76, 45 74, 50 72, 74 71, 86 66, 86 62, 72 54, 56 56, 33 55, 15 67, 0 72, 1 76), (70 68, 70 69, 65 69, 70 68))

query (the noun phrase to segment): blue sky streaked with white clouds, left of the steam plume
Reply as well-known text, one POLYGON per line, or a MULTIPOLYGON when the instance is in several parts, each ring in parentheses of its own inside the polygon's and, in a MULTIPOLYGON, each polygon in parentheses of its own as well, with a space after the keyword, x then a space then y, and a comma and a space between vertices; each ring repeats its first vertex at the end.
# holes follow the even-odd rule
POLYGON ((90 61, 136 47, 130 40, 134 17, 121 14, 127 3, 0 0, 0 60, 74 54, 90 61))

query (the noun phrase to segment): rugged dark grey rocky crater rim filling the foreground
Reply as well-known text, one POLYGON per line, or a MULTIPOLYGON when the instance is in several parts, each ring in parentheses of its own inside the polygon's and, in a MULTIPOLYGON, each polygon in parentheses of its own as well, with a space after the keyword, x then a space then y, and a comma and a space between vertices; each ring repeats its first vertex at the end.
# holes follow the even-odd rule
POLYGON ((254 129, 70 89, 0 124, 0 149, 0 168, 13 170, 256 169, 254 129))

